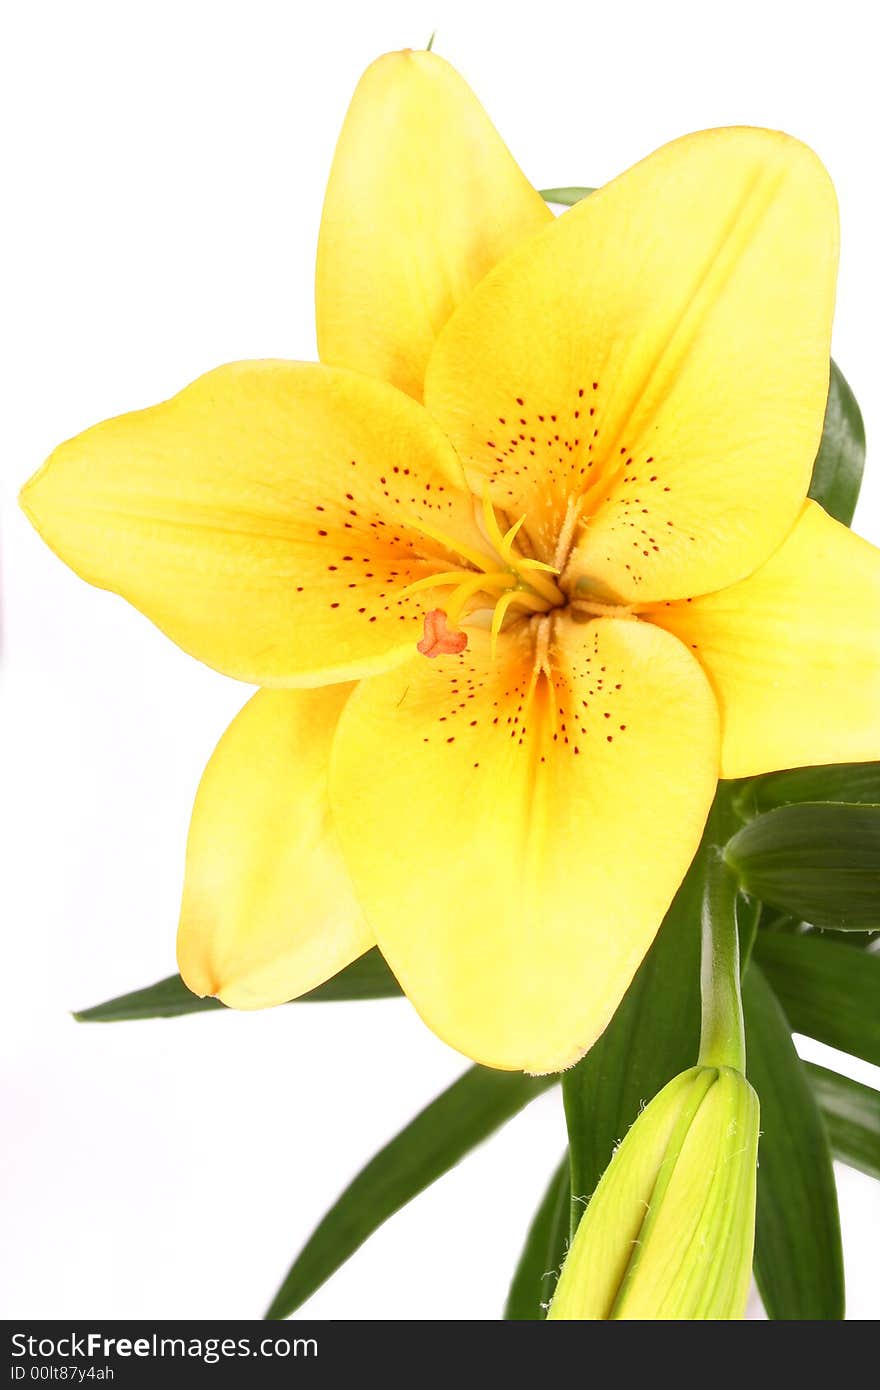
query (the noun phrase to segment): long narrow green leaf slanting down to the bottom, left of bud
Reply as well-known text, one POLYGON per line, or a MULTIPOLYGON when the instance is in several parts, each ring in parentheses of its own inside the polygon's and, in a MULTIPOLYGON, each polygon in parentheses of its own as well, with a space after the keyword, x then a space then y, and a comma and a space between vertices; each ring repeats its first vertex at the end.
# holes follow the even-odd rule
POLYGON ((286 1318, 400 1207, 449 1172, 556 1076, 471 1066, 346 1187, 293 1262, 267 1318, 286 1318))

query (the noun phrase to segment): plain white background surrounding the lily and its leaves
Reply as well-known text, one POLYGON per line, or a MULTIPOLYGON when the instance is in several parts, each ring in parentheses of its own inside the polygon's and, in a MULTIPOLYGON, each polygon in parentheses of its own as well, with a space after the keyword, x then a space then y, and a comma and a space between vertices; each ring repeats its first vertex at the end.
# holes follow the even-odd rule
MULTIPOLYGON (((709 125, 812 143, 842 213, 834 352, 877 439, 870 22, 863 0, 7 7, 6 1316, 259 1316, 361 1162, 464 1065, 398 1001, 68 1017, 174 969, 193 792, 246 691, 68 573, 17 486, 58 441, 211 366, 314 356, 314 245, 350 92, 373 57, 432 29, 538 186, 601 183, 709 125)), ((880 541, 880 470, 856 525, 880 541)), ((562 1147, 545 1097, 306 1314, 498 1316, 562 1147)), ((849 1314, 876 1318, 880 1187, 840 1177, 849 1314)))

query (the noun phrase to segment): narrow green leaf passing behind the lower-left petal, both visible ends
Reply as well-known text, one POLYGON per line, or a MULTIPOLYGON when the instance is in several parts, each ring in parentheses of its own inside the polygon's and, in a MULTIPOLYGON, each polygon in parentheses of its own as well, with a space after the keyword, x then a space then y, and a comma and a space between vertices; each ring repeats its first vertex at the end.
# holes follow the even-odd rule
MULTIPOLYGON (((388 999, 399 995, 400 986, 385 965, 378 949, 373 947, 357 960, 352 960, 331 980, 318 984, 309 994, 302 994, 292 1004, 334 1004, 345 999, 388 999)), ((149 984, 145 990, 120 994, 115 999, 96 1004, 90 1009, 74 1013, 78 1023, 122 1023, 132 1019, 174 1019, 181 1013, 203 1013, 207 1009, 225 1009, 220 999, 200 999, 186 988, 179 974, 149 984)))

